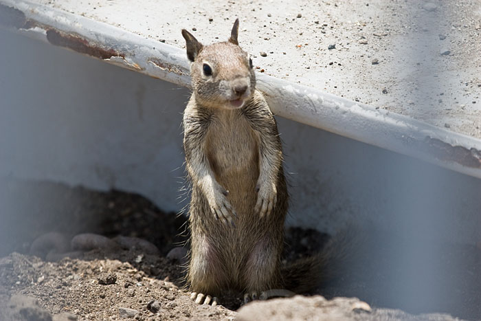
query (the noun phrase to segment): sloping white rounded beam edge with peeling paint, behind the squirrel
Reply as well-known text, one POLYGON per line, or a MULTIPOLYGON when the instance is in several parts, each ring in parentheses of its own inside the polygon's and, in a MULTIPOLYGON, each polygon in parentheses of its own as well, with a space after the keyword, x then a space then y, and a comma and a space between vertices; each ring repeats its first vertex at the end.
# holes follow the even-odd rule
MULTIPOLYGON (((190 85, 182 49, 78 14, 0 0, 0 25, 148 76, 190 85)), ((277 115, 481 178, 481 140, 475 137, 271 76, 257 77, 258 88, 277 115)))

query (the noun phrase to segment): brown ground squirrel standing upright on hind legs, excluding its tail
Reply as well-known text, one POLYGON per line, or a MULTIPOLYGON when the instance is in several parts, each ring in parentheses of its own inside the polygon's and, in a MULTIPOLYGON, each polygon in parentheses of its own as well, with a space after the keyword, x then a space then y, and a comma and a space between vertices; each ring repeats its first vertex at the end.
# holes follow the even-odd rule
POLYGON ((183 113, 192 187, 188 285, 198 303, 216 304, 227 289, 255 299, 289 285, 280 261, 288 193, 276 120, 238 45, 238 19, 225 42, 204 46, 182 35, 192 76, 183 113))

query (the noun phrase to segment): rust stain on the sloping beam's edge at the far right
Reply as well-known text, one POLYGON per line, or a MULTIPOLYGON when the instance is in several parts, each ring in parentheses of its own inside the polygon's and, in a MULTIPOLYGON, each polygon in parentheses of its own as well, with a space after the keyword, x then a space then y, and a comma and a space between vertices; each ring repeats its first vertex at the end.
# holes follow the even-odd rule
POLYGON ((452 146, 437 138, 427 136, 425 146, 432 155, 442 161, 456 162, 470 168, 481 168, 481 151, 476 148, 452 146))

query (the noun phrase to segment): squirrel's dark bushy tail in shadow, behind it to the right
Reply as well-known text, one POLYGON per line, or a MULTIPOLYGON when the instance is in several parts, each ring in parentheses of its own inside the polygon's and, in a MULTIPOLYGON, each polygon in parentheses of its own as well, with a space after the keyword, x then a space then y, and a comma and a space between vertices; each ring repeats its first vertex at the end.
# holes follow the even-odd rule
POLYGON ((335 234, 322 250, 281 269, 285 289, 296 294, 309 293, 343 274, 357 257, 359 231, 352 226, 335 234))

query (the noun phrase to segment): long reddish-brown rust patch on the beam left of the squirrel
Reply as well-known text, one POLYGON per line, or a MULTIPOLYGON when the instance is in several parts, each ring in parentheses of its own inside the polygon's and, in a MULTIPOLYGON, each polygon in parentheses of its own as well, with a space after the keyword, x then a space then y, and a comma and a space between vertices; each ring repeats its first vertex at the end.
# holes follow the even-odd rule
POLYGON ((106 49, 100 45, 89 43, 87 39, 78 36, 78 34, 60 32, 58 30, 47 30, 47 40, 52 45, 60 47, 67 47, 80 54, 88 54, 100 59, 109 59, 111 57, 119 56, 125 58, 125 55, 115 51, 114 49, 106 49))

